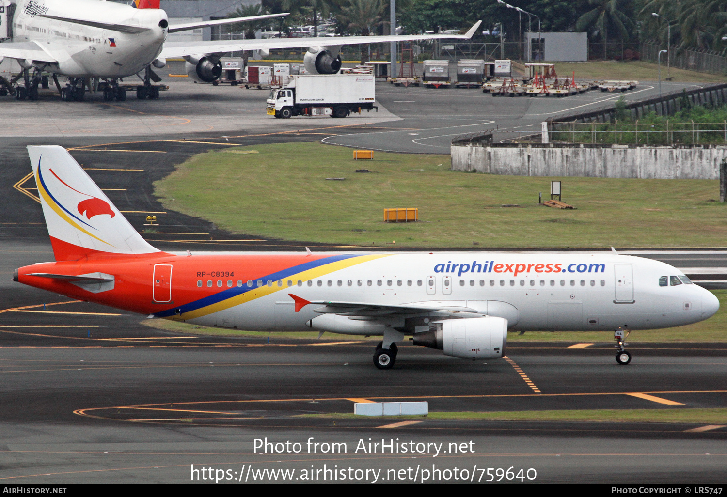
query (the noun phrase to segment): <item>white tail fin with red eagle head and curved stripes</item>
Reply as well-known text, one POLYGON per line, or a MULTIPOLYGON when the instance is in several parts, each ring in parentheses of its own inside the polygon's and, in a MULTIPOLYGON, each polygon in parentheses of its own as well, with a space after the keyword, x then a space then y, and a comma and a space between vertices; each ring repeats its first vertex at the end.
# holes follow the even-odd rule
POLYGON ((29 146, 28 155, 57 261, 160 252, 137 233, 65 148, 29 146))

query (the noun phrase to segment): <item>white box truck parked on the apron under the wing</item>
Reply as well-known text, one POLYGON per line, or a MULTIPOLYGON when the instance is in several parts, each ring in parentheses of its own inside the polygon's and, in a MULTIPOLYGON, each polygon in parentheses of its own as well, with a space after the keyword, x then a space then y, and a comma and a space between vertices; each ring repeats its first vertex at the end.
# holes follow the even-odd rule
POLYGON ((294 76, 268 97, 268 115, 331 116, 345 118, 352 112, 379 108, 374 105, 373 74, 310 74, 294 76))

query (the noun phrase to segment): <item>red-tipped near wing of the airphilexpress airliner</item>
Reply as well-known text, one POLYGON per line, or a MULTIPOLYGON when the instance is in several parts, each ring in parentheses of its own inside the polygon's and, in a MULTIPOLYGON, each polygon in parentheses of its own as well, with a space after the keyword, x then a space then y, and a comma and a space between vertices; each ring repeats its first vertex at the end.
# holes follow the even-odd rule
POLYGON ((288 294, 295 301, 295 312, 300 311, 308 304, 318 304, 314 312, 319 314, 337 314, 342 316, 382 316, 391 314, 421 314, 423 312, 440 312, 446 313, 475 313, 478 311, 470 309, 470 307, 451 307, 451 306, 433 306, 427 304, 377 304, 373 302, 339 302, 331 300, 306 300, 301 297, 288 294))

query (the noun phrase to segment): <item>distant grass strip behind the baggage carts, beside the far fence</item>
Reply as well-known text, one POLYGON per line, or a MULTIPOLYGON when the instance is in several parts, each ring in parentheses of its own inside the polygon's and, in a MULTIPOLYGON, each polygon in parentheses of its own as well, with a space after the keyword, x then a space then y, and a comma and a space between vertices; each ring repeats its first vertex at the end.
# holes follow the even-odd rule
MULTIPOLYGON (((558 76, 571 76, 576 71, 576 79, 616 79, 637 81, 659 81, 659 65, 643 60, 618 62, 616 60, 591 62, 553 62, 558 76)), ((672 81, 675 83, 724 83, 726 76, 709 73, 697 73, 694 70, 672 68, 672 81)), ((662 88, 664 92, 672 92, 667 85, 666 62, 662 62, 662 88)))

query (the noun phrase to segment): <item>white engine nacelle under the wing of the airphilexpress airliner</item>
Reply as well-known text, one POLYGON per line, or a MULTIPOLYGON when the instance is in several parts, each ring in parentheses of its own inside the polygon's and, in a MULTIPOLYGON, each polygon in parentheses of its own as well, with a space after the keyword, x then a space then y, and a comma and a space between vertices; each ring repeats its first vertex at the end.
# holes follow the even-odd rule
POLYGON ((494 359, 505 355, 505 318, 448 319, 434 324, 434 330, 414 334, 414 345, 440 349, 444 355, 462 359, 494 359))

